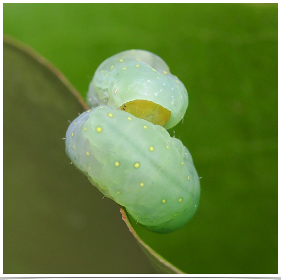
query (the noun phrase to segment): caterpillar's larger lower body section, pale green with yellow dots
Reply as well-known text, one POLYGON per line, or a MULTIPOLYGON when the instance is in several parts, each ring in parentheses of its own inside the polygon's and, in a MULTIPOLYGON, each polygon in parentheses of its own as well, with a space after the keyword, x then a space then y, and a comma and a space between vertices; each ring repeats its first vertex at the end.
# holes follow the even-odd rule
POLYGON ((73 164, 149 230, 176 230, 197 210, 200 183, 192 157, 163 127, 98 106, 70 124, 65 141, 73 164))

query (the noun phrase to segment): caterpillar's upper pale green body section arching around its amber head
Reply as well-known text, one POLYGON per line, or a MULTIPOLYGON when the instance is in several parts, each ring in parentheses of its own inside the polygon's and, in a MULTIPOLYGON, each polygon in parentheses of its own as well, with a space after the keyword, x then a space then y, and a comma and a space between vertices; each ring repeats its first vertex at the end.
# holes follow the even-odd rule
POLYGON ((109 105, 118 109, 136 99, 152 101, 171 111, 166 129, 182 120, 188 106, 183 83, 156 54, 127 50, 102 62, 87 93, 90 107, 109 105))

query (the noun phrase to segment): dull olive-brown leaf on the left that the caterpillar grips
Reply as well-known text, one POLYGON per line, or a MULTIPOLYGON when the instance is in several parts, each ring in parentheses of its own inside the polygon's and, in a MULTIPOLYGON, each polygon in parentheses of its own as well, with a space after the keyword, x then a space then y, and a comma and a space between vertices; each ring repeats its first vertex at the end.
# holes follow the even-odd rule
POLYGON ((152 273, 117 204, 69 164, 77 91, 11 38, 3 56, 4 273, 152 273))

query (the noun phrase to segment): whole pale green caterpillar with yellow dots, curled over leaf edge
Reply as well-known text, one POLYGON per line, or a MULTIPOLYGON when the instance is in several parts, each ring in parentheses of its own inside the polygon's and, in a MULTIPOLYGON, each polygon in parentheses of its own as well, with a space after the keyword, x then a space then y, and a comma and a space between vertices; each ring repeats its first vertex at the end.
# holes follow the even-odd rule
MULTIPOLYGON (((116 58, 117 61, 120 59, 123 59, 122 62, 127 61, 127 65, 121 65, 123 68, 132 67, 131 59, 133 58, 134 63, 136 59, 145 60, 145 63, 149 62, 150 65, 154 65, 153 67, 159 66, 159 68, 156 67, 158 70, 167 69, 167 65, 158 56, 146 51, 126 51, 112 58, 114 61, 116 58), (137 58, 132 55, 136 53, 137 58), (166 68, 163 68, 164 66, 166 68)), ((117 68, 117 65, 112 63, 112 58, 102 63, 90 84, 88 99, 95 107, 79 115, 67 129, 66 153, 94 186, 105 196, 125 206, 126 211, 137 222, 155 232, 171 232, 184 226, 198 208, 200 199, 198 174, 187 148, 180 140, 171 138, 163 127, 169 124, 173 116, 168 110, 170 107, 162 106, 165 105, 164 103, 161 103, 162 105, 156 103, 155 99, 141 99, 142 95, 138 96, 136 89, 132 91, 131 100, 125 99, 126 95, 122 94, 122 91, 128 86, 124 81, 122 87, 118 86, 118 92, 121 91, 118 98, 123 99, 120 103, 116 103, 112 90, 109 88, 114 90, 116 83, 121 83, 121 77, 125 81, 131 81, 133 77, 128 79, 126 76, 121 76, 120 81, 110 82, 111 74, 103 75, 107 72, 100 69, 106 69, 107 66, 110 69, 112 65, 112 69, 114 66, 117 68), (100 71, 104 71, 102 76, 100 76, 100 71), (106 84, 113 84, 113 86, 105 87, 102 91, 102 84, 105 81, 108 81, 106 84), (97 106, 100 103, 107 105, 97 106), (126 104, 129 105, 126 106, 126 104), (167 111, 160 106, 171 114, 167 114, 167 111), (140 117, 141 114, 143 118, 140 117), (167 115, 170 118, 167 118, 167 115), (163 124, 164 121, 166 122, 163 126, 157 124, 163 124)), ((141 65, 140 61, 138 65, 141 65)), ((115 75, 119 73, 117 75, 119 77, 120 67, 116 71, 115 75)), ((128 71, 130 76, 133 73, 133 70, 128 71)), ((136 72, 138 76, 136 79, 141 81, 144 74, 144 80, 146 80, 148 73, 151 71, 136 72)), ((187 92, 183 90, 183 85, 180 85, 178 94, 181 94, 187 102, 187 92)), ((159 85, 158 92, 160 88, 162 87, 159 85)), ((150 89, 150 87, 147 88, 147 90, 150 89)), ((166 90, 165 94, 168 94, 168 89, 166 90)), ((154 91, 156 88, 153 89, 154 91)), ((175 100, 179 102, 179 104, 176 103, 176 107, 187 106, 187 103, 180 101, 182 100, 180 97, 175 100)), ((179 109, 178 112, 181 110, 179 109)), ((185 110, 179 114, 179 119, 184 113, 185 110)), ((173 122, 179 116, 175 117, 173 122)))

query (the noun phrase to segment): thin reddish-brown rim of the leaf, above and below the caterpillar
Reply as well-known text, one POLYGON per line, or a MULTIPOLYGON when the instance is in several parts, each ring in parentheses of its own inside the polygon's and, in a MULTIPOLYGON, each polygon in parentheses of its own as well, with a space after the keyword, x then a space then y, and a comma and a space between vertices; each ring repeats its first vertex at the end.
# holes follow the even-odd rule
MULTIPOLYGON (((71 93, 78 99, 79 103, 83 106, 85 110, 88 110, 89 107, 81 97, 80 93, 74 88, 74 86, 67 80, 67 78, 58 70, 51 62, 45 59, 42 55, 40 55, 36 50, 34 50, 29 45, 21 42, 13 38, 10 35, 4 34, 3 35, 3 43, 10 44, 14 47, 19 48, 21 51, 29 54, 32 58, 37 60, 40 64, 44 65, 48 68, 54 75, 56 75, 61 82, 71 91, 71 93)), ((167 274, 185 274, 185 272, 179 270, 177 267, 172 265, 166 259, 164 259, 161 255, 159 255, 156 251, 154 251, 151 247, 149 247, 137 234, 134 230, 130 219, 126 213, 125 207, 119 205, 120 212, 122 214, 122 219, 126 223, 129 228, 129 231, 133 234, 133 236, 138 241, 138 244, 151 261, 152 266, 155 268, 156 271, 159 273, 167 273, 167 274)))

